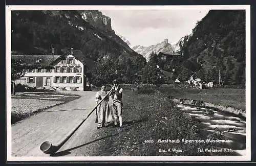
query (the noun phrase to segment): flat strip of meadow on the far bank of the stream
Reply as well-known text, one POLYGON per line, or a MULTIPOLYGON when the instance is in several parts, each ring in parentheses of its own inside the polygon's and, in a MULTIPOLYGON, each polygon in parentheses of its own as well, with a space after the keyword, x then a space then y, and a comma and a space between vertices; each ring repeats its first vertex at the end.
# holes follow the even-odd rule
POLYGON ((245 110, 245 89, 234 88, 158 88, 164 94, 179 99, 194 99, 245 110))

